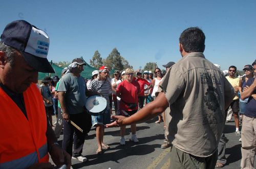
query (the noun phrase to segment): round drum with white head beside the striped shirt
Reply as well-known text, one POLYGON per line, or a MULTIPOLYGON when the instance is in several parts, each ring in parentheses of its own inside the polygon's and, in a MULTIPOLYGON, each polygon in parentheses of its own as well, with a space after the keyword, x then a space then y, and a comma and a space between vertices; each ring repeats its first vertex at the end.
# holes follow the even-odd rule
POLYGON ((92 116, 101 115, 106 109, 107 101, 104 97, 93 95, 87 98, 86 109, 92 116))

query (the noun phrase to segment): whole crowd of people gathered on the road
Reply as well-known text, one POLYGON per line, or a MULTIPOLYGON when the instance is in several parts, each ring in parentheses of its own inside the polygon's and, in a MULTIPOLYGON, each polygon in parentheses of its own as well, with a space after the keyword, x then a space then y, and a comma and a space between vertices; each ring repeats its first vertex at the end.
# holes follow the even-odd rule
POLYGON ((57 167, 72 168, 71 158, 88 160, 82 150, 92 127, 100 155, 110 149, 103 139, 105 128, 120 127, 120 145, 125 145, 125 126, 131 125, 130 140, 138 143, 136 123, 154 117, 165 129, 161 148, 172 147, 170 168, 223 167, 228 112, 242 142, 241 168, 253 168, 256 60, 237 77, 236 66, 225 72, 205 59, 204 42, 198 27, 184 30, 179 39, 182 59, 163 65, 164 73, 159 68, 154 72, 127 68, 116 70, 111 78, 110 69, 101 66, 86 80, 81 76, 86 62, 75 58, 61 78, 45 77, 36 86, 39 71, 54 73, 47 60, 49 37, 27 21, 9 23, 0 43, 0 131, 6 137, 0 140, 0 168, 53 168, 49 154, 57 167), (90 115, 85 104, 94 95, 104 98, 106 107, 90 115))

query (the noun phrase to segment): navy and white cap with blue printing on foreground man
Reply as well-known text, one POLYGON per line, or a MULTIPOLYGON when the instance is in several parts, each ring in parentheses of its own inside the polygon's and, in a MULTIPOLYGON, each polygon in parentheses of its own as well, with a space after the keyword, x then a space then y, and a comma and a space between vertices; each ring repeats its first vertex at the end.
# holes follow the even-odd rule
POLYGON ((49 36, 25 20, 15 20, 9 23, 1 42, 22 53, 27 64, 39 72, 55 73, 47 60, 49 50, 49 36))

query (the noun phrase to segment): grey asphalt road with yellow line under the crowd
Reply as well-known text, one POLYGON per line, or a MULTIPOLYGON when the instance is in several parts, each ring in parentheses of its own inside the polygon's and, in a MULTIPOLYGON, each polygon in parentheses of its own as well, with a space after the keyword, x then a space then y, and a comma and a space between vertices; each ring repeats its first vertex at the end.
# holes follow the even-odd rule
MULTIPOLYGON (((168 149, 161 149, 164 139, 163 123, 156 124, 157 119, 137 124, 139 143, 129 140, 130 126, 126 127, 125 146, 119 144, 119 128, 105 129, 104 143, 111 148, 96 155, 97 142, 94 127, 89 132, 83 146, 83 155, 89 160, 81 163, 72 159, 73 168, 169 168, 170 158, 168 149)), ((229 139, 226 145, 227 164, 223 168, 240 168, 241 142, 234 133, 234 122, 226 123, 225 135, 229 139)), ((62 134, 59 143, 62 141, 62 134)))

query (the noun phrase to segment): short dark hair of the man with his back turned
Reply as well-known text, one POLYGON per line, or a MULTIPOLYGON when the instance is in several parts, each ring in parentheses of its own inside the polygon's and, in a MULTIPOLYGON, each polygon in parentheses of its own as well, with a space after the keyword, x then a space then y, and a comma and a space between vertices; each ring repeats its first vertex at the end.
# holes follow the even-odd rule
POLYGON ((189 27, 180 35, 180 43, 185 52, 204 52, 205 35, 198 27, 189 27))

